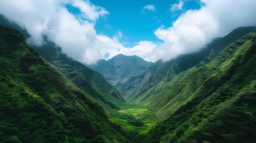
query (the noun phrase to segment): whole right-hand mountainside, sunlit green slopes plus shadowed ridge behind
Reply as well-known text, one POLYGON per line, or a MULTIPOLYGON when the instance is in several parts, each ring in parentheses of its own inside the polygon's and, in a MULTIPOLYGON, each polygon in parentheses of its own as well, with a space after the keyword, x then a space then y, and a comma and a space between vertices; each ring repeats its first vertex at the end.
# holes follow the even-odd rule
POLYGON ((254 142, 255 32, 240 27, 132 80, 125 99, 162 120, 143 142, 254 142))

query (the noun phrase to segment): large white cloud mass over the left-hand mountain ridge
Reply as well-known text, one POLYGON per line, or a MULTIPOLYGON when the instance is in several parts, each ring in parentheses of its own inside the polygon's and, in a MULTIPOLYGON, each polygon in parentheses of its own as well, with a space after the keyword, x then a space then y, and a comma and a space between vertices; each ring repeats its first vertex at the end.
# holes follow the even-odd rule
POLYGON ((88 0, 0 1, 0 14, 26 29, 30 44, 42 45, 43 35, 47 35, 64 53, 84 63, 95 63, 108 48, 122 47, 115 37, 97 35, 95 20, 109 12, 88 0), (65 5, 79 8, 81 15, 70 13, 65 5))

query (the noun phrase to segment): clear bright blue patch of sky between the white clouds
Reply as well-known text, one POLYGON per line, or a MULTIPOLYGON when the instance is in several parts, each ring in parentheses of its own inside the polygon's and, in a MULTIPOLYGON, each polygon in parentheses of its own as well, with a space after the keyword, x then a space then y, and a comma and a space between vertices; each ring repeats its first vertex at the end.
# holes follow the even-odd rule
POLYGON ((171 27, 173 21, 187 10, 199 10, 200 1, 184 1, 182 10, 170 11, 171 5, 179 3, 178 0, 91 0, 100 7, 106 8, 110 14, 101 17, 95 24, 98 34, 109 37, 118 35, 120 31, 122 38, 119 42, 125 46, 132 47, 139 41, 160 41, 154 34, 158 27, 171 27), (155 11, 143 10, 145 5, 153 5, 155 11), (143 13, 144 11, 144 13, 143 13))

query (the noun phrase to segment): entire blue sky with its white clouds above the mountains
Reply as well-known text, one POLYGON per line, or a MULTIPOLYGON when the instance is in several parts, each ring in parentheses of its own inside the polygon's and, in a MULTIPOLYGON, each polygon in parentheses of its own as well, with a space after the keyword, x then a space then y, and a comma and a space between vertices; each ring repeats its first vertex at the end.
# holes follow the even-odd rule
POLYGON ((168 61, 233 29, 256 26, 252 0, 8 0, 0 14, 82 63, 118 54, 168 61))

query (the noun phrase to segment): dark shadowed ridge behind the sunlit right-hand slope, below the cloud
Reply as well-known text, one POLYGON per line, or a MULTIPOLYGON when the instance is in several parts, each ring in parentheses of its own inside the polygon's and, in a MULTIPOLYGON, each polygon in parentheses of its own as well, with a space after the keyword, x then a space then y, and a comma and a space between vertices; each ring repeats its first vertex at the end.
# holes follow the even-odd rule
POLYGON ((150 95, 143 95, 145 95, 145 92, 149 91, 150 88, 153 88, 162 81, 174 79, 174 77, 182 71, 186 71, 193 66, 200 67, 202 64, 209 63, 209 61, 218 57, 226 46, 238 40, 246 33, 251 32, 253 28, 254 27, 240 27, 230 32, 229 35, 224 36, 224 38, 215 38, 211 43, 206 45, 202 51, 181 55, 168 62, 163 62, 162 60, 157 61, 144 71, 137 80, 129 85, 124 97, 127 100, 146 100, 150 95))

